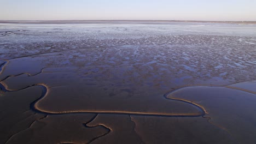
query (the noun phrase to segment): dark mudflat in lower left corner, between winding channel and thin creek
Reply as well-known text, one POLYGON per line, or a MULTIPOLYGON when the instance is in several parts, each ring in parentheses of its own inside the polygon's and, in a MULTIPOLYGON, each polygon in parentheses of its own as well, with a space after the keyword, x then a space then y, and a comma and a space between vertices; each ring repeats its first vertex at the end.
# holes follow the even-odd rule
POLYGON ((7 142, 18 135, 20 131, 29 128, 34 121, 46 116, 30 109, 30 104, 39 98, 41 93, 40 87, 27 88, 19 92, 1 93, 0 143, 7 142))

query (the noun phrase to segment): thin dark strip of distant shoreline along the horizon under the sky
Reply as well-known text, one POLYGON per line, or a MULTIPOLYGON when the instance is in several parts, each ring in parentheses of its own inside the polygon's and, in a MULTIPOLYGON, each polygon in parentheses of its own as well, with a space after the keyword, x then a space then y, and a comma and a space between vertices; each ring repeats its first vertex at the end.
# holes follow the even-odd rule
POLYGON ((256 21, 178 21, 178 20, 38 20, 38 21, 19 21, 19 20, 0 20, 0 23, 173 23, 173 22, 199 22, 199 23, 237 23, 237 24, 256 24, 256 21))

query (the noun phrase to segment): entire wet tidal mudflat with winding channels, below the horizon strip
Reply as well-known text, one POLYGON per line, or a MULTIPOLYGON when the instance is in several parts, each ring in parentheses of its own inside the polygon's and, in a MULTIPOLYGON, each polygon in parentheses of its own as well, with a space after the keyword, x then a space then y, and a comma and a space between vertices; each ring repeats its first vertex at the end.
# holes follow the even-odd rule
POLYGON ((41 25, 0 27, 0 143, 256 142, 254 26, 41 25))

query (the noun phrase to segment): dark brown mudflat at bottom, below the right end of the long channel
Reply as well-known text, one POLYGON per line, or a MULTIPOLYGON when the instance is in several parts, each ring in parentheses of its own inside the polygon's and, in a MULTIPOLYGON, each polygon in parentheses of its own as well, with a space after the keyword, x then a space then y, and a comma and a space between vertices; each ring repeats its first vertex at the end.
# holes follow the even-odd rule
POLYGON ((202 117, 132 116, 144 143, 238 143, 202 117))

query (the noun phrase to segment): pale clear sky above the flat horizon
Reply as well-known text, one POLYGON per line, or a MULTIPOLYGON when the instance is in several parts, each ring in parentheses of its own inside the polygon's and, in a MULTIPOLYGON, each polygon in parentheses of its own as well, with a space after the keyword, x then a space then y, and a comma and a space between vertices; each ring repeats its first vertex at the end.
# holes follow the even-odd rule
POLYGON ((256 21, 256 0, 0 0, 0 20, 256 21))

